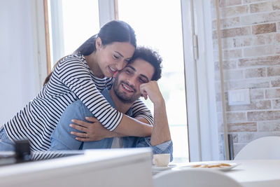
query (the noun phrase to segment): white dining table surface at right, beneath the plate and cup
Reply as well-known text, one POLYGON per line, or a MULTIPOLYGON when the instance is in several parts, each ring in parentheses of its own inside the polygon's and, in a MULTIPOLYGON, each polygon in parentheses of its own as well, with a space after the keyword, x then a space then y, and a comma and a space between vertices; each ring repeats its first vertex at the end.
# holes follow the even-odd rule
MULTIPOLYGON (((224 174, 232 177, 244 187, 279 187, 280 186, 280 160, 231 160, 231 161, 212 161, 213 162, 234 162, 238 165, 235 168, 230 169, 224 174)), ((185 164, 178 164, 171 170, 176 170, 180 166, 195 165, 211 162, 190 162, 185 164)), ((184 167, 186 169, 192 169, 191 167, 184 167)), ((207 168, 205 168, 207 169, 207 168)), ((170 169, 167 169, 170 170, 170 169)), ((165 172, 167 170, 159 171, 153 170, 153 174, 158 172, 165 172)))

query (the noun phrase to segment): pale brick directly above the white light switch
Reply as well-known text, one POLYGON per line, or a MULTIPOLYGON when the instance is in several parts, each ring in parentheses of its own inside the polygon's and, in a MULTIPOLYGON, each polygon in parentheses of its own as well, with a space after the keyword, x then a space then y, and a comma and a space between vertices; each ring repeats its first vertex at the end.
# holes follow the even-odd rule
POLYGON ((231 90, 246 88, 269 88, 269 81, 266 79, 246 79, 242 81, 229 81, 228 88, 231 90))

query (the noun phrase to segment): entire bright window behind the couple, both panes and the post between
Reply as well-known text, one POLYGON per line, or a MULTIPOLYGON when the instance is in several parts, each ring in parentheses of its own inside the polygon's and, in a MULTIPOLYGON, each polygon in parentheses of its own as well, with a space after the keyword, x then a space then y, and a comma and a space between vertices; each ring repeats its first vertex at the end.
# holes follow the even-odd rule
MULTIPOLYGON (((115 18, 128 22, 134 28, 137 45, 151 47, 162 56, 163 69, 159 84, 167 106, 174 143, 174 162, 188 162, 181 1, 48 1, 51 17, 49 22, 52 25, 50 29, 52 62, 73 53, 86 39, 98 32, 99 25, 112 20, 114 8, 117 8, 112 4, 118 3, 118 16, 115 18)), ((153 109, 151 103, 147 105, 153 109)))

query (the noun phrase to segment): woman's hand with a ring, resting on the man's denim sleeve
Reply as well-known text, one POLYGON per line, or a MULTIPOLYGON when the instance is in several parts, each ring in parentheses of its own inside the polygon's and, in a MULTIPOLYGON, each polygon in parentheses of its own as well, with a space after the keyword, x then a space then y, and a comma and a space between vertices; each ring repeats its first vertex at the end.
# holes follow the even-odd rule
POLYGON ((116 132, 111 132, 106 130, 105 127, 97 118, 85 118, 87 121, 92 123, 87 123, 83 120, 72 120, 73 123, 70 124, 70 127, 80 130, 81 132, 71 131, 71 134, 76 136, 76 140, 78 141, 98 141, 108 137, 116 137, 116 132))

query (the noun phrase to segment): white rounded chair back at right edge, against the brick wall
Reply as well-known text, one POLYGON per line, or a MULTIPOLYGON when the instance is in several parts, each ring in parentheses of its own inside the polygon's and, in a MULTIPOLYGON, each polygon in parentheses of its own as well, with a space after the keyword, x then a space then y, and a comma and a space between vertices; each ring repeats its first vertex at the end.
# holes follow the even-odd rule
POLYGON ((261 137, 248 143, 235 160, 280 159, 280 137, 261 137))

